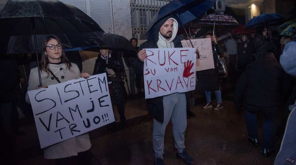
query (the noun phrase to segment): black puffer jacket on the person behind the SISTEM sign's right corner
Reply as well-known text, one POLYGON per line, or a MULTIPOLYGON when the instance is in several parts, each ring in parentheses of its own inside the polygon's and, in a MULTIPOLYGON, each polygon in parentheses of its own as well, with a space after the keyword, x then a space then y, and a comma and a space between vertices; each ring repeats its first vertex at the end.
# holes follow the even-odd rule
POLYGON ((126 97, 126 91, 124 87, 124 82, 121 80, 121 72, 124 69, 124 65, 121 57, 118 54, 112 53, 111 57, 108 57, 108 64, 106 65, 106 60, 98 56, 96 63, 94 65, 93 75, 100 73, 106 73, 106 67, 112 69, 115 72, 115 77, 107 76, 108 82, 112 81, 112 91, 110 91, 111 99, 122 100, 126 97))

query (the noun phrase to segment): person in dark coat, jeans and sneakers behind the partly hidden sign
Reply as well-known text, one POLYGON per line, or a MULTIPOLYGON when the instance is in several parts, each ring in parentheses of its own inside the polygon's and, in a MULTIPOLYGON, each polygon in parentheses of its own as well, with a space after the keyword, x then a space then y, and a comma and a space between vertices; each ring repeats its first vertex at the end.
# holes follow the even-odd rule
MULTIPOLYGON (((205 38, 211 38, 212 41, 212 49, 213 49, 213 59, 214 64, 217 64, 218 55, 221 55, 224 50, 222 46, 217 42, 216 37, 213 36, 213 33, 209 32, 205 35, 205 38)), ((204 106, 202 106, 203 109, 212 108, 212 102, 211 102, 211 90, 215 91, 217 104, 213 107, 214 110, 222 109, 222 96, 221 96, 221 88, 219 84, 220 76, 218 75, 216 65, 214 65, 215 68, 213 69, 207 69, 207 70, 201 70, 198 71, 198 88, 205 90, 205 96, 207 99, 207 103, 205 103, 204 106)))

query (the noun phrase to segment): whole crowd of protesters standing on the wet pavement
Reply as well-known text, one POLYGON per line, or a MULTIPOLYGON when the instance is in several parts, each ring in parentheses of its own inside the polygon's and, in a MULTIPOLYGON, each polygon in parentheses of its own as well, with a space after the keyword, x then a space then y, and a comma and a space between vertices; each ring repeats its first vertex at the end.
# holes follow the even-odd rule
MULTIPOLYGON (((112 108, 116 105, 122 128, 127 125, 124 104, 128 96, 122 80, 123 62, 125 62, 129 71, 131 89, 129 96, 136 96, 135 88, 137 88, 137 94, 142 96, 144 95, 142 90, 143 65, 147 57, 145 49, 182 47, 182 38, 177 35, 178 22, 175 17, 164 17, 154 25, 154 29, 157 29, 154 37, 141 44, 140 47, 137 45, 138 40, 136 38, 130 39, 130 43, 137 54, 128 55, 123 61, 116 52, 100 49, 94 65, 92 75, 100 73, 107 75, 112 108)), ((219 58, 227 56, 229 57, 228 74, 231 75, 237 71, 241 74, 234 94, 234 103, 238 109, 241 109, 242 105, 245 106, 248 130, 246 140, 249 140, 254 146, 259 145, 256 113, 263 113, 262 155, 270 156, 274 152, 271 141, 275 130, 276 110, 279 108, 282 99, 289 93, 289 76, 279 63, 279 57, 283 51, 280 44, 285 41, 281 41, 276 32, 268 33, 266 27, 259 27, 256 34, 242 34, 237 36, 237 39, 231 37, 225 42, 218 42, 213 32, 207 32, 203 37, 211 39, 214 64, 219 61, 219 58)), ((284 44, 287 44, 287 42, 284 44)), ((197 57, 198 54, 199 50, 197 49, 197 57)), ((80 59, 77 60, 77 58, 74 58, 74 54, 65 53, 61 39, 55 35, 49 35, 44 39, 40 57, 40 67, 34 67, 30 71, 28 91, 47 88, 48 85, 67 80, 91 76, 89 73, 82 72, 81 57, 79 56, 80 59), (42 86, 38 85, 38 69, 41 71, 42 86)), ((5 148, 9 150, 1 151, 1 154, 8 159, 11 156, 9 152, 12 152, 15 147, 12 109, 15 106, 13 104, 14 91, 20 77, 15 59, 13 57, 6 58, 1 59, 0 65, 3 71, 1 77, 7 77, 7 80, 9 80, 1 81, 0 121, 3 135, 1 141, 5 141, 5 148)), ((197 86, 205 92, 206 103, 202 108, 212 108, 213 110, 226 108, 222 105, 220 86, 223 76, 221 77, 218 74, 217 66, 215 65, 213 69, 198 71, 196 74, 197 86), (214 105, 212 104, 212 91, 216 96, 216 104, 214 105)), ((28 95, 26 101, 30 103, 28 95)), ((155 165, 164 164, 164 137, 169 121, 172 122, 176 157, 183 159, 186 164, 194 164, 194 159, 185 149, 186 118, 196 116, 190 110, 192 107, 189 102, 189 93, 172 93, 147 99, 148 110, 153 118, 152 142, 155 165)), ((115 123, 111 123, 108 127, 112 129, 114 125, 115 123)), ((74 158, 78 163, 91 164, 91 159, 88 156, 90 147, 89 135, 84 133, 45 147, 44 158, 56 159, 56 164, 70 164, 69 162, 73 162, 74 158)))

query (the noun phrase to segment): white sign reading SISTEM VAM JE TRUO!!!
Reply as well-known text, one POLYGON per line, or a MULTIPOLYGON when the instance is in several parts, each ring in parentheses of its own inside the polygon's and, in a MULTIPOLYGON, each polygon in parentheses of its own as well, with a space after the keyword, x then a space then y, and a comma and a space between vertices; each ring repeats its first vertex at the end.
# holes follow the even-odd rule
POLYGON ((28 91, 41 148, 115 121, 106 74, 28 91))

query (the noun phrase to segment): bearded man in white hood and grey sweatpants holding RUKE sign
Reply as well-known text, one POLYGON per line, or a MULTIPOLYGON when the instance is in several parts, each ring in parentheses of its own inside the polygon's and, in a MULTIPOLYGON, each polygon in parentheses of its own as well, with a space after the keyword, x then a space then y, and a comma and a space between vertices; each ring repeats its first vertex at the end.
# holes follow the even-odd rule
MULTIPOLYGON (((145 48, 177 48, 182 47, 181 37, 176 36, 178 22, 173 16, 168 16, 154 25, 154 37, 141 44, 138 59, 134 70, 143 74, 144 59, 147 57, 145 48)), ((173 93, 147 99, 149 113, 153 117, 153 149, 155 165, 163 165, 163 149, 165 128, 172 121, 176 156, 184 160, 186 164, 194 164, 194 160, 185 151, 184 135, 187 126, 186 121, 186 96, 185 93, 173 93)))

